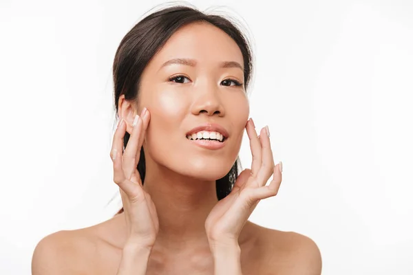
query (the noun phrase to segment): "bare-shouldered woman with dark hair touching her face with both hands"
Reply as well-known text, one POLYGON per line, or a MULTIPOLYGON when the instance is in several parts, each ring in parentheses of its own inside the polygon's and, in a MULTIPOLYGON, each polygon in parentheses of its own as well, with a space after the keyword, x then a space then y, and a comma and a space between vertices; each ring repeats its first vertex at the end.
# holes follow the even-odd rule
POLYGON ((219 16, 178 6, 136 24, 113 71, 124 211, 46 236, 32 274, 321 274, 311 239, 247 221, 282 181, 268 126, 248 119, 251 60, 219 16), (253 162, 238 175, 244 129, 253 162))

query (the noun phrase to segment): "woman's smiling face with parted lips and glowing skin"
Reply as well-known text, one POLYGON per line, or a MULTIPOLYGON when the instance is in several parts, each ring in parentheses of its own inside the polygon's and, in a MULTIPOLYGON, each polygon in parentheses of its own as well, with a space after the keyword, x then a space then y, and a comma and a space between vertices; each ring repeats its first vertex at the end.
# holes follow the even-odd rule
POLYGON ((147 164, 205 180, 226 175, 249 114, 244 85, 237 85, 244 83, 243 69, 240 48, 219 28, 191 23, 174 33, 140 82, 140 109, 151 113, 143 145, 147 164), (189 139, 220 135, 223 142, 189 139))

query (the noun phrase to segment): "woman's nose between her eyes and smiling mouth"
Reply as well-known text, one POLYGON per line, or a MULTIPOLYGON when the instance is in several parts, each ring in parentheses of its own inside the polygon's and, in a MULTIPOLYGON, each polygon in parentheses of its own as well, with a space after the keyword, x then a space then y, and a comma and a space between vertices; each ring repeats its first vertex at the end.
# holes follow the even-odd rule
POLYGON ((225 115, 224 107, 220 98, 218 89, 208 86, 194 91, 195 100, 193 101, 192 113, 194 115, 218 115, 220 117, 225 115))

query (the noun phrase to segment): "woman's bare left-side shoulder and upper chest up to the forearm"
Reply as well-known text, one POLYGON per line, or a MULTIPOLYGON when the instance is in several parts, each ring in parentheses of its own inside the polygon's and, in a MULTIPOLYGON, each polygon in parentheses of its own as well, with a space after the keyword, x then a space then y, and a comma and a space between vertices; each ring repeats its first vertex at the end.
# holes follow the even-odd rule
POLYGON ((32 274, 114 274, 125 243, 123 217, 45 236, 32 256, 32 274))

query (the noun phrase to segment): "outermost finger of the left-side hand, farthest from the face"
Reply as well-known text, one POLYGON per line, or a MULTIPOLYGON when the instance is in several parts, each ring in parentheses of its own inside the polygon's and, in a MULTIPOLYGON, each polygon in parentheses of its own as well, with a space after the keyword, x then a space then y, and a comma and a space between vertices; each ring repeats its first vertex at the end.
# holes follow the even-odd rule
POLYGON ((114 140, 112 142, 111 158, 114 167, 114 182, 121 188, 127 195, 133 194, 134 184, 131 181, 125 180, 125 173, 123 172, 123 137, 126 133, 125 120, 120 120, 118 128, 114 133, 114 140))

